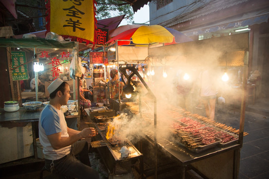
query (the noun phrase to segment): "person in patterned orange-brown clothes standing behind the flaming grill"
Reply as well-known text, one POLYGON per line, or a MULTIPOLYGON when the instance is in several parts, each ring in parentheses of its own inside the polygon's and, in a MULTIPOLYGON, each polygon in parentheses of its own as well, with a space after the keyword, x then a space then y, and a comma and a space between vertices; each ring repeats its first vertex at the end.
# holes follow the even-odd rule
POLYGON ((110 81, 110 97, 111 98, 118 98, 119 97, 119 87, 120 87, 120 95, 124 96, 123 94, 123 87, 124 87, 124 83, 123 82, 119 82, 118 83, 118 70, 113 69, 110 71, 110 77, 111 77, 111 81, 110 81))

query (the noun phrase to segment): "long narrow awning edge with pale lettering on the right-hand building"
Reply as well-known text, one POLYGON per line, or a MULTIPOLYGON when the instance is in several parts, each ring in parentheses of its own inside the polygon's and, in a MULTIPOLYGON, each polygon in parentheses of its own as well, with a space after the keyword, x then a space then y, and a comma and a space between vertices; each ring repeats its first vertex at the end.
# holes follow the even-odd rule
POLYGON ((261 14, 261 15, 255 15, 253 13, 248 13, 248 14, 244 14, 240 17, 236 16, 233 18, 229 18, 225 21, 211 24, 211 25, 208 25, 206 27, 204 26, 204 27, 201 27, 199 29, 182 31, 182 33, 184 33, 187 36, 206 34, 206 33, 210 33, 210 32, 216 32, 219 30, 245 27, 247 25, 254 25, 254 24, 260 24, 263 22, 268 22, 268 18, 269 18, 268 12, 261 14))

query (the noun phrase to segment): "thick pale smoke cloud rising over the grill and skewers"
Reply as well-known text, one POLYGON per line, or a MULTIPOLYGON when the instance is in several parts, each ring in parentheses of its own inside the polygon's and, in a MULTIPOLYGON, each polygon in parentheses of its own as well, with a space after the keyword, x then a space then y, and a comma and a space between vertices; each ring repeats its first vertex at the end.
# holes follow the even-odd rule
MULTIPOLYGON (((169 48, 163 52, 158 51, 158 54, 161 53, 169 53, 169 48)), ((173 50, 171 55, 165 55, 165 57, 151 57, 147 62, 149 66, 147 70, 154 70, 155 74, 146 76, 147 71, 145 71, 144 80, 156 97, 156 111, 154 111, 154 101, 148 95, 150 92, 142 83, 138 83, 136 91, 139 92, 140 97, 137 95, 134 101, 138 106, 140 99, 140 108, 138 110, 136 107, 135 110, 135 107, 131 107, 131 112, 136 115, 125 113, 114 118, 112 124, 115 126, 115 131, 118 131, 115 132, 115 135, 132 142, 137 142, 144 134, 154 139, 154 112, 156 112, 157 139, 173 140, 171 126, 176 119, 182 117, 180 109, 206 117, 205 109, 195 110, 195 106, 199 104, 203 72, 207 72, 207 81, 212 84, 211 88, 216 90, 218 96, 230 95, 233 91, 230 88, 232 84, 242 84, 242 73, 240 75, 238 72, 240 70, 243 72, 243 68, 242 66, 231 67, 229 64, 231 65, 235 61, 242 62, 243 58, 244 53, 232 56, 208 46, 200 46, 200 49, 197 50, 185 49, 184 53, 180 49, 173 50), (229 74, 229 82, 221 80, 225 71, 229 74), (167 78, 163 77, 164 72, 167 73, 167 78)), ((217 120, 221 122, 223 119, 218 118, 217 120)))

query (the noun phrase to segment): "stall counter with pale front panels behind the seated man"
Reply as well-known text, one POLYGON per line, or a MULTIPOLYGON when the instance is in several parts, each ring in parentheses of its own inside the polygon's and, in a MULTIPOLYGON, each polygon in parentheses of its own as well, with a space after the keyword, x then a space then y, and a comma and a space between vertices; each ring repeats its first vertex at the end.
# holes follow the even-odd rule
MULTIPOLYGON (((0 109, 0 164, 34 156, 37 159, 36 137, 38 120, 43 107, 36 111, 6 112, 0 109)), ((67 125, 77 130, 78 116, 66 117, 67 125)))

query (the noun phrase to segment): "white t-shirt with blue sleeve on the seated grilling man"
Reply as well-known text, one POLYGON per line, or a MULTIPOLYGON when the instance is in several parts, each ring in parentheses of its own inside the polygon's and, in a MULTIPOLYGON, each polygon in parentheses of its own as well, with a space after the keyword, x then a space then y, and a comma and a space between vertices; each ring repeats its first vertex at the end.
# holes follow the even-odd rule
POLYGON ((48 104, 42 110, 39 117, 39 140, 43 146, 43 154, 45 159, 57 160, 66 156, 71 151, 71 145, 55 150, 52 148, 48 135, 61 132, 61 137, 69 137, 67 133, 67 124, 65 121, 64 113, 48 104))

